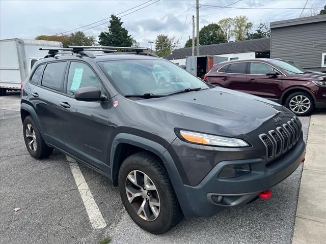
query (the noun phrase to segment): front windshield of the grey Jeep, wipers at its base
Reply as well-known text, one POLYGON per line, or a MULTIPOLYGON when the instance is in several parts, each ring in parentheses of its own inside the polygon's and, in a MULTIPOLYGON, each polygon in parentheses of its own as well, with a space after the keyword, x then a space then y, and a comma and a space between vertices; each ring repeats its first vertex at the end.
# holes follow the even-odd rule
POLYGON ((167 60, 112 60, 98 64, 122 95, 169 95, 208 88, 202 80, 167 60))

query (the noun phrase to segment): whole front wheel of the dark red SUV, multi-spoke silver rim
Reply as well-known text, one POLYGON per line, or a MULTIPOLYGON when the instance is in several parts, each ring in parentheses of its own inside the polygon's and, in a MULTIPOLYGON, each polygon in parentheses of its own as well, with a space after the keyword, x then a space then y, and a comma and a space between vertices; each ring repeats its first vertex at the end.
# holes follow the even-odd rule
POLYGON ((285 101, 285 106, 297 116, 307 116, 314 110, 313 98, 305 92, 291 94, 285 101))

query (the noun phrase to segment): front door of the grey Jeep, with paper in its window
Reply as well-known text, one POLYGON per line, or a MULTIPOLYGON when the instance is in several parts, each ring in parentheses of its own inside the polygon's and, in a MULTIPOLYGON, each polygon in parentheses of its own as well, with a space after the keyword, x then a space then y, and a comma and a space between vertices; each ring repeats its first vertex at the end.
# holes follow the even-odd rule
POLYGON ((84 62, 71 61, 65 96, 60 101, 66 150, 96 168, 108 170, 108 100, 77 101, 74 92, 80 87, 95 86, 107 96, 100 79, 84 62))

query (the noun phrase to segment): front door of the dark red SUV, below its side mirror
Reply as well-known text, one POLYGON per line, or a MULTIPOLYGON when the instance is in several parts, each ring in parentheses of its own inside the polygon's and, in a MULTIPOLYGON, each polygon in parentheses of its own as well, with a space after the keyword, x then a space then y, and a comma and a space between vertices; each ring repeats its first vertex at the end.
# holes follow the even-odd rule
POLYGON ((247 92, 252 95, 268 99, 279 99, 282 90, 281 72, 274 67, 262 62, 250 62, 248 67, 247 92), (275 71, 277 77, 268 77, 266 73, 275 71))

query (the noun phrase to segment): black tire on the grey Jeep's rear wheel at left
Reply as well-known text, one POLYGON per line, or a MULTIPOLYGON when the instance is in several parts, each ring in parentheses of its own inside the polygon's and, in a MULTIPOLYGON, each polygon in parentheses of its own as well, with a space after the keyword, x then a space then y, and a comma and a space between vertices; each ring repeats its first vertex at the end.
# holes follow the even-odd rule
POLYGON ((53 148, 49 147, 45 144, 32 116, 30 116, 30 115, 26 116, 26 118, 24 120, 23 135, 24 135, 24 141, 25 141, 26 148, 33 158, 43 159, 43 158, 49 157, 52 154, 53 148), (29 132, 27 133, 27 131, 29 131, 29 132), (32 136, 28 136, 28 134, 32 135, 32 136), (32 145, 31 145, 32 148, 30 148, 29 143, 35 139, 34 136, 35 136, 36 140, 32 143, 32 145), (34 147, 34 145, 35 145, 34 143, 36 144, 35 147, 34 147))

